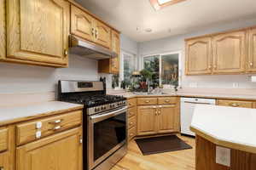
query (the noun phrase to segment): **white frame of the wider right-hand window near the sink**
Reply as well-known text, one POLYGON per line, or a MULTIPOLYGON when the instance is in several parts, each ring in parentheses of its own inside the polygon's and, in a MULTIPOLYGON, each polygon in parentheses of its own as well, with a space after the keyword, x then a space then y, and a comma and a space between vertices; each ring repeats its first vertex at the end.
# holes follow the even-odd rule
POLYGON ((181 88, 182 87, 182 51, 172 51, 172 52, 166 52, 166 53, 159 53, 159 54, 147 54, 147 55, 143 55, 143 62, 142 62, 142 69, 144 69, 144 59, 146 57, 152 57, 152 56, 156 56, 159 55, 159 74, 160 74, 160 85, 162 85, 162 56, 163 55, 172 55, 172 54, 178 54, 178 87, 177 88, 181 88))

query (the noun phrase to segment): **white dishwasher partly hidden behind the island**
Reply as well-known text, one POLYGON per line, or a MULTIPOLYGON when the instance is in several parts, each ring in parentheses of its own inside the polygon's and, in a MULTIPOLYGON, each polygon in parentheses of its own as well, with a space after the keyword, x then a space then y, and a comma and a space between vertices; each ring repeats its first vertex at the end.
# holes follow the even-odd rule
POLYGON ((195 105, 216 105, 216 99, 182 98, 181 99, 181 133, 195 136, 189 127, 195 110, 195 105))

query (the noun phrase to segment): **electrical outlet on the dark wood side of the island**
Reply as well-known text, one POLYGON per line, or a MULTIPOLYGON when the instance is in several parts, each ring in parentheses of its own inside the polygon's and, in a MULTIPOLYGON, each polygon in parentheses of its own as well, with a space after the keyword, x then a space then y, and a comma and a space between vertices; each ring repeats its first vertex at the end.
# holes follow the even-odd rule
POLYGON ((228 148, 216 146, 216 163, 230 167, 231 150, 228 148))

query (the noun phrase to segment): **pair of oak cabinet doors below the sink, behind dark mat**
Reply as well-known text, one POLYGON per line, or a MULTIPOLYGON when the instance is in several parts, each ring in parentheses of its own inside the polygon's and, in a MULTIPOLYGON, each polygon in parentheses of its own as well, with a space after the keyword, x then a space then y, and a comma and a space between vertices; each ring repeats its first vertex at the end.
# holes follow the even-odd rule
POLYGON ((178 105, 137 107, 137 135, 179 132, 178 105))

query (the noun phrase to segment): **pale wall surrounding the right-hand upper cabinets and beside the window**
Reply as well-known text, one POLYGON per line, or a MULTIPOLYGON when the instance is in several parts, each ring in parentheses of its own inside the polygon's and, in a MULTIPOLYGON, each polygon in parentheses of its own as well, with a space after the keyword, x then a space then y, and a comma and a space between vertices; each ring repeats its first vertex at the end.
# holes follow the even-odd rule
POLYGON ((150 42, 139 43, 140 67, 142 67, 142 56, 148 54, 160 54, 173 51, 182 51, 182 86, 189 88, 189 84, 197 82, 198 88, 233 88, 233 82, 239 83, 239 88, 256 88, 256 83, 250 82, 247 76, 193 76, 186 77, 184 75, 184 39, 188 37, 196 37, 204 34, 214 33, 218 31, 228 31, 230 29, 238 29, 247 26, 255 26, 256 19, 237 20, 236 22, 222 24, 221 26, 211 26, 200 31, 195 31, 186 35, 175 37, 166 37, 150 42))

